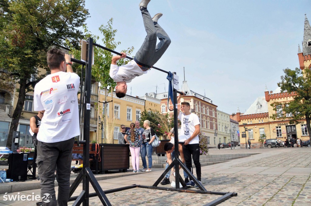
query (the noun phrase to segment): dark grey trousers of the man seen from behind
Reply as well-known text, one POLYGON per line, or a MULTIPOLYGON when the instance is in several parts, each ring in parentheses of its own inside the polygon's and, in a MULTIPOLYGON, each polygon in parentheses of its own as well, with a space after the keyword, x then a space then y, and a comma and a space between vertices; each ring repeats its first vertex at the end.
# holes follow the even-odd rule
MULTIPOLYGON (((40 171, 41 197, 45 193, 50 194, 49 203, 43 201, 43 205, 67 206, 70 189, 70 166, 72 161, 72 147, 74 138, 69 140, 45 143, 38 141, 38 156, 36 163, 40 171), (58 182, 58 197, 56 201, 54 181, 58 182)), ((49 199, 48 198, 48 199, 49 199)))

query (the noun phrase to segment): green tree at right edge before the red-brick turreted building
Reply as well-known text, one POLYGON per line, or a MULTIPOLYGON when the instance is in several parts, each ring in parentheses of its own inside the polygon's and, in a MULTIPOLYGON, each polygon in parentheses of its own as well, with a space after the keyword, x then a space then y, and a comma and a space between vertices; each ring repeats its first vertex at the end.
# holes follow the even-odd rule
POLYGON ((309 138, 311 139, 311 71, 310 69, 295 70, 284 69, 285 75, 281 76, 281 82, 277 83, 282 92, 293 92, 294 100, 271 104, 276 114, 271 116, 272 119, 281 118, 289 119, 290 124, 299 124, 299 121, 306 119, 309 138), (282 110, 281 110, 282 109, 282 110), (283 112, 281 112, 283 111, 283 112))

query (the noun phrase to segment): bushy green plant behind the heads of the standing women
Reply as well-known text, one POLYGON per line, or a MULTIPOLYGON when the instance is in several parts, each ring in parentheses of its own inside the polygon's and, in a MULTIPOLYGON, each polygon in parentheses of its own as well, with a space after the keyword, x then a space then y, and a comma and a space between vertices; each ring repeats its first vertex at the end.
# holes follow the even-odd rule
POLYGON ((143 111, 140 117, 140 126, 143 127, 145 120, 150 121, 150 127, 154 129, 158 137, 164 137, 174 127, 173 117, 169 113, 160 114, 156 111, 143 111), (160 125, 159 125, 160 124, 160 125))

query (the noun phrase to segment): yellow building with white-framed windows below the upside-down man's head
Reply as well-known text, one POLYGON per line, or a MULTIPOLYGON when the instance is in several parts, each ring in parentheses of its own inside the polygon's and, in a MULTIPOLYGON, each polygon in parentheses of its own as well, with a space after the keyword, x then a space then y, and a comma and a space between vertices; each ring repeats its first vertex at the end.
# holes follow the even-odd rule
MULTIPOLYGON (((143 111, 160 111, 160 100, 150 97, 134 97, 126 95, 118 98, 115 92, 109 92, 105 100, 105 90, 100 90, 100 117, 104 120, 104 133, 98 130, 98 143, 114 143, 118 144, 118 132, 120 125, 125 125, 127 129, 130 124, 140 120, 143 111), (104 102, 107 102, 104 104, 104 102), (106 113, 104 107, 106 105, 106 113), (105 118, 106 117, 106 118, 105 118)), ((95 138, 93 140, 96 140, 95 138)))

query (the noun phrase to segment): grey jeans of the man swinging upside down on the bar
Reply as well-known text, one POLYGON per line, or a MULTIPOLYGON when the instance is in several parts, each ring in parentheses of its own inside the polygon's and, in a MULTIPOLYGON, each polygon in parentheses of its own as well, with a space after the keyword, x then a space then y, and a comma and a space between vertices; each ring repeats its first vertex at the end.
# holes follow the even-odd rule
POLYGON ((152 21, 147 9, 142 11, 142 19, 147 36, 136 53, 135 59, 142 64, 153 66, 169 47, 171 40, 160 25, 152 21), (156 44, 157 38, 160 40, 158 44, 156 44))

